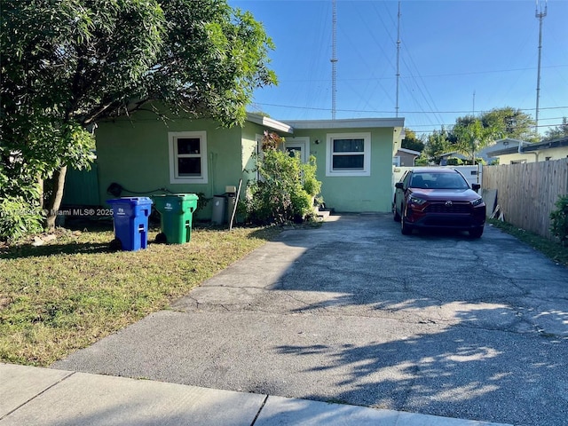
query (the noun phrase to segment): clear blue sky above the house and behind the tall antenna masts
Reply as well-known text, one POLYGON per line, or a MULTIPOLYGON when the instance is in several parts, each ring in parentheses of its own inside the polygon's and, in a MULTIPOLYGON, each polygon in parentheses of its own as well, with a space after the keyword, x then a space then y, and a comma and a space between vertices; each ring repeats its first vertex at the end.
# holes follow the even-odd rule
MULTIPOLYGON (((229 4, 252 12, 276 44, 280 83, 256 91, 248 109, 280 120, 331 118, 332 0, 229 4)), ((425 134, 503 106, 534 117, 535 10, 534 0, 402 0, 398 116, 406 127, 425 134)), ((336 118, 395 116, 397 13, 396 0, 337 0, 336 118)), ((541 134, 568 116, 568 1, 548 1, 542 39, 541 134)))

